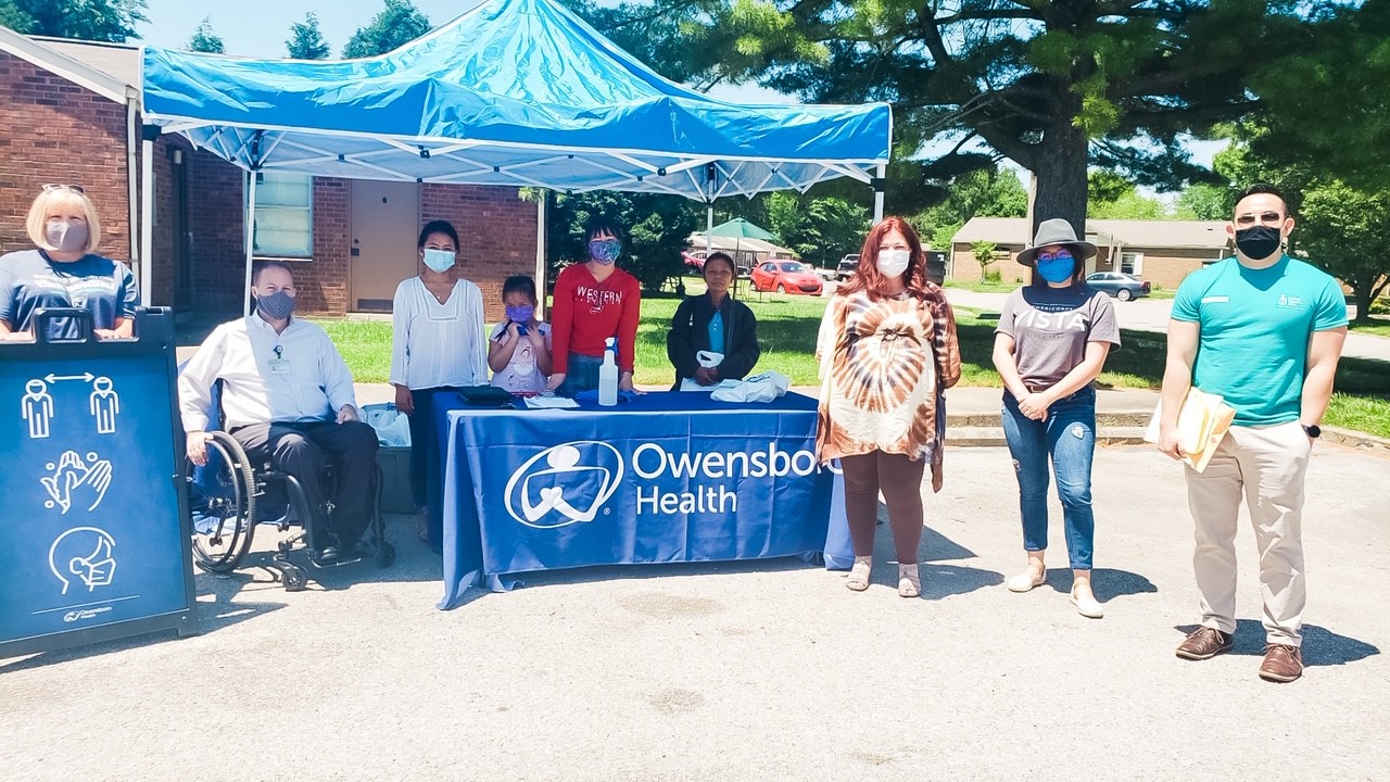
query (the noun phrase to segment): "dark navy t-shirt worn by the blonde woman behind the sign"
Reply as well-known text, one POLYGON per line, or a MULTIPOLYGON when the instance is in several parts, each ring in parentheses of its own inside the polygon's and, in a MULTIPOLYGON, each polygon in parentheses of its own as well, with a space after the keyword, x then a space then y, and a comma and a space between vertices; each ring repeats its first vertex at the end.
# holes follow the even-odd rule
MULTIPOLYGON (((0 320, 11 331, 29 330, 38 308, 81 308, 92 313, 93 328, 115 328, 115 319, 135 317, 136 303, 131 270, 108 257, 61 262, 38 249, 0 256, 0 320)), ((50 340, 78 335, 68 319, 56 319, 49 330, 50 340)))

